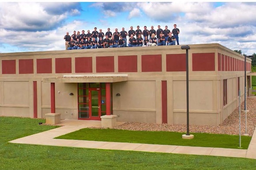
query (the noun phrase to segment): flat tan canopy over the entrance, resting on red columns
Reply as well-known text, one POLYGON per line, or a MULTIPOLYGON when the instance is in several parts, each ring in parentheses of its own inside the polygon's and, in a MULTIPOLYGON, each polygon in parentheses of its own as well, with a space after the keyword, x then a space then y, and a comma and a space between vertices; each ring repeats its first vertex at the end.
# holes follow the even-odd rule
POLYGON ((115 83, 128 80, 128 74, 82 74, 44 78, 45 83, 115 83))

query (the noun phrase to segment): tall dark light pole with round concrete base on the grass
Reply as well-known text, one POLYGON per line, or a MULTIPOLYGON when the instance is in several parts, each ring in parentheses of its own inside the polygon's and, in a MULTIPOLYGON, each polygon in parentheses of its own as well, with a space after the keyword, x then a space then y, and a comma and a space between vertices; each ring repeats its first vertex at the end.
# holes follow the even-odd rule
POLYGON ((194 135, 189 134, 189 98, 188 98, 188 50, 190 47, 188 45, 181 46, 182 50, 186 50, 186 81, 187 81, 187 133, 182 135, 183 139, 192 139, 194 135))

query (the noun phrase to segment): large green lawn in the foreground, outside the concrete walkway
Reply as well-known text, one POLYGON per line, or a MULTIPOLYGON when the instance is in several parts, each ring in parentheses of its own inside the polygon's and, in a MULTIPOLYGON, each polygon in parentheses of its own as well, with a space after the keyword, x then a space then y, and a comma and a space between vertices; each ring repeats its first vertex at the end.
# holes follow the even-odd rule
POLYGON ((255 170, 256 160, 152 152, 114 151, 8 141, 55 127, 41 119, 0 117, 0 170, 255 170))

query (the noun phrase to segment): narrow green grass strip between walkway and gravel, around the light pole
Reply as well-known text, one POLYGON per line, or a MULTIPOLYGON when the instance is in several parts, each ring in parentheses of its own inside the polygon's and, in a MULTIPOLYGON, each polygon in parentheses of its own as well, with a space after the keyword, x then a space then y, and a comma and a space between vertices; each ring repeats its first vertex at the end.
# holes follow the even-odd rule
MULTIPOLYGON (((184 140, 181 137, 182 134, 184 133, 85 128, 56 138, 214 148, 239 148, 239 136, 237 135, 192 133, 195 136, 194 139, 184 140)), ((242 149, 248 148, 251 138, 252 137, 242 136, 242 149)))

